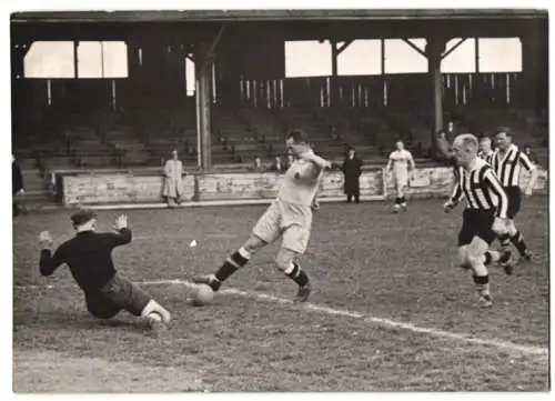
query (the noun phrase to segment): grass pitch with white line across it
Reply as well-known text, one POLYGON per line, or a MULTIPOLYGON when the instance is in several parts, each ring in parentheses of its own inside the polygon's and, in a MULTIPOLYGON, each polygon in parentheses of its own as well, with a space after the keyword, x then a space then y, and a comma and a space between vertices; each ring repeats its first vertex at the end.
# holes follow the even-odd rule
MULTIPOLYGON (((545 197, 518 217, 533 262, 513 277, 491 269, 491 310, 478 309, 456 265, 461 209, 445 214, 441 200, 398 215, 381 202, 323 204, 301 261, 314 285, 309 304, 287 302, 296 289, 273 267, 272 244, 212 304, 191 307, 190 288, 169 281, 213 272, 263 210, 127 212, 134 239, 114 260, 172 311, 161 338, 125 313, 109 323, 89 317, 67 268, 40 277, 38 233, 70 238, 69 211, 18 218, 14 391, 549 389, 545 197)), ((100 212, 101 229, 117 214, 100 212)))

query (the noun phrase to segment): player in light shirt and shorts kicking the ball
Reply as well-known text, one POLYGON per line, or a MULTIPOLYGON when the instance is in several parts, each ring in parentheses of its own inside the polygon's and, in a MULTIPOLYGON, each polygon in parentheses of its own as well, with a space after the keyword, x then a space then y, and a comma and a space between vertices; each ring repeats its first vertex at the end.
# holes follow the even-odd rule
POLYGON ((244 267, 258 251, 281 237, 275 265, 299 285, 296 301, 309 299, 311 283, 296 259, 306 250, 312 212, 317 210, 316 193, 321 177, 331 163, 312 151, 302 130, 291 131, 285 146, 296 160, 283 176, 276 199, 256 222, 246 242, 225 260, 215 274, 194 279, 194 282, 205 283, 218 291, 222 282, 244 267))

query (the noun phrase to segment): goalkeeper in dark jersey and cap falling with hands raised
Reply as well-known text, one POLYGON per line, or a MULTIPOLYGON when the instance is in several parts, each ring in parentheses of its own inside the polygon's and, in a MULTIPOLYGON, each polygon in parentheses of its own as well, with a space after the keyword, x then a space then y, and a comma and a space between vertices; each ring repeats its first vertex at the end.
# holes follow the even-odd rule
POLYGON ((139 287, 121 277, 113 265, 112 250, 131 242, 128 219, 115 220, 118 232, 97 233, 97 215, 81 210, 71 217, 75 237, 63 242, 52 254, 52 237, 40 233, 40 272, 51 275, 58 267, 69 265, 71 275, 83 290, 87 309, 99 319, 111 319, 121 310, 142 317, 153 329, 162 329, 170 312, 139 287))

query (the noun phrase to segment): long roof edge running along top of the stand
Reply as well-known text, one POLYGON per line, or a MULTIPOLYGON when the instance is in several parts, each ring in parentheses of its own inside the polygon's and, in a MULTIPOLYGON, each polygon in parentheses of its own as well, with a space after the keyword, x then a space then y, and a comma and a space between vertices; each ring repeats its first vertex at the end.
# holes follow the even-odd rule
POLYGON ((11 22, 208 22, 547 18, 537 9, 160 10, 14 12, 11 22))

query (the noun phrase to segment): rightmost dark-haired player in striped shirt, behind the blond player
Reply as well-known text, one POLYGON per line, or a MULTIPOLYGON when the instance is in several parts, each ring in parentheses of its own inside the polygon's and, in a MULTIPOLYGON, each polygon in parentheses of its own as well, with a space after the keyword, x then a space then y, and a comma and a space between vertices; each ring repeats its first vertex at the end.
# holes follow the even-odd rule
POLYGON ((505 249, 508 249, 511 247, 511 242, 513 242, 518 250, 521 258, 531 260, 532 253, 528 251, 526 243, 524 242, 522 232, 516 229, 514 219, 521 210, 522 202, 522 190, 519 187, 521 167, 524 167, 531 173, 528 184, 524 190, 524 194, 526 197, 532 194, 532 189, 536 183, 537 168, 529 161, 528 157, 516 147, 516 144, 512 143, 511 136, 508 134, 506 128, 497 130, 495 142, 497 144, 497 149, 492 156, 492 167, 508 197, 508 233, 500 237, 500 241, 502 247, 505 249))

